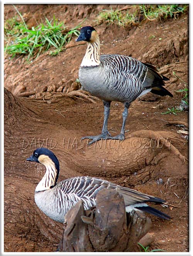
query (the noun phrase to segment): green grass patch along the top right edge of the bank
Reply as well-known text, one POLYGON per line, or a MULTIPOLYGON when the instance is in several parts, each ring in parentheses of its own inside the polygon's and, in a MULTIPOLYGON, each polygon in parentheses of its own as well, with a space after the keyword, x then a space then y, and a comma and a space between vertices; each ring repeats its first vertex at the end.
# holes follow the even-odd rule
POLYGON ((129 11, 103 10, 98 16, 98 22, 117 24, 118 26, 132 26, 140 24, 143 20, 177 19, 181 13, 186 12, 187 4, 143 4, 131 5, 129 11))

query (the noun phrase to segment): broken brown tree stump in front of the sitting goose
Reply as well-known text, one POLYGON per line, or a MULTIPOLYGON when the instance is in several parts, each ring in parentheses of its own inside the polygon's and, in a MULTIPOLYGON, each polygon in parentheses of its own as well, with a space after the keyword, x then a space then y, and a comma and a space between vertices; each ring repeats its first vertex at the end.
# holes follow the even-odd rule
POLYGON ((139 251, 137 242, 147 234, 151 220, 143 213, 126 214, 124 199, 114 190, 100 190, 96 208, 83 209, 82 201, 64 218, 62 252, 139 251))

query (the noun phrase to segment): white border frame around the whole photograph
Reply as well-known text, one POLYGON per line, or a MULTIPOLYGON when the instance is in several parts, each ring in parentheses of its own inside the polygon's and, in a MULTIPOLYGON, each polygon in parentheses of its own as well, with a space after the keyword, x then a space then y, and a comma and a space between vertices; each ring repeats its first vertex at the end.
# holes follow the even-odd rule
MULTIPOLYGON (((0 116, 1 116, 1 129, 0 129, 0 164, 1 164, 1 244, 0 244, 0 254, 1 255, 34 255, 34 254, 41 254, 41 255, 52 255, 53 253, 4 253, 3 250, 4 250, 4 200, 3 200, 3 191, 4 191, 4 187, 3 187, 3 183, 4 183, 4 175, 3 175, 3 170, 4 170, 4 157, 3 157, 3 152, 4 152, 4 119, 3 119, 3 112, 4 112, 4 106, 3 106, 3 94, 4 94, 4 90, 3 90, 3 85, 4 85, 4 72, 3 72, 3 66, 4 66, 4 58, 3 58, 3 22, 4 22, 4 4, 28 4, 28 3, 32 3, 32 4, 41 4, 41 3, 53 3, 53 1, 51 0, 47 0, 47 1, 30 1, 30 2, 27 2, 27 1, 24 1, 24 0, 20 0, 20 1, 16 1, 16 0, 7 0, 7 1, 2 1, 0 0, 0 38, 1 38, 1 52, 0 52, 0 59, 1 59, 1 74, 0 74, 0 77, 1 77, 1 87, 0 87, 0 116)), ((74 1, 74 2, 70 2, 69 0, 67 1, 58 1, 58 2, 54 2, 56 4, 73 4, 73 3, 96 3, 96 4, 104 4, 104 3, 117 3, 117 1, 115 0, 112 0, 112 1, 103 1, 103 0, 98 0, 97 2, 95 1, 88 1, 88 0, 84 0, 84 1, 80 1, 80 0, 77 0, 77 1, 74 1)), ((128 2, 128 1, 125 1, 125 0, 122 0, 119 4, 141 4, 143 2, 140 2, 139 0, 136 0, 136 1, 131 1, 131 2, 128 2)), ((146 2, 147 3, 147 2, 146 2)), ((155 3, 153 0, 149 0, 148 3, 155 3)), ((168 2, 166 1, 161 1, 159 3, 165 3, 167 4, 168 2)), ((171 3, 182 3, 182 2, 179 2, 179 1, 169 1, 168 4, 171 4, 171 3)), ((190 28, 190 32, 189 32, 189 36, 191 35, 191 29, 193 27, 193 24, 192 24, 192 19, 191 19, 191 3, 188 3, 188 2, 185 2, 183 4, 189 4, 189 7, 190 7, 190 14, 189 14, 189 28, 190 28)), ((189 38, 189 53, 190 53, 190 61, 189 61, 189 82, 191 81, 191 72, 190 72, 190 63, 191 63, 191 46, 192 46, 192 43, 191 43, 191 40, 189 38)), ((191 83, 190 83, 191 84, 191 83)), ((190 90, 190 111, 191 111, 191 90, 190 90)), ((191 115, 190 115, 190 128, 192 127, 191 126, 191 115)), ((191 129, 190 129, 191 130, 191 129)), ((190 141, 191 141, 191 132, 190 132, 190 141)), ((191 145, 190 145, 190 149, 191 149, 191 145)), ((190 183, 193 183, 193 180, 192 180, 192 175, 191 175, 191 159, 193 159, 193 154, 191 152, 191 150, 189 149, 190 151, 190 167, 189 167, 189 178, 190 178, 190 183)), ((192 230, 192 221, 190 219, 190 213, 192 213, 191 211, 191 208, 192 208, 192 204, 191 204, 191 187, 190 187, 190 202, 189 202, 189 252, 188 253, 161 253, 161 252, 156 252, 156 253, 145 253, 145 255, 192 255, 191 254, 191 242, 192 242, 192 236, 191 236, 191 230, 192 230)), ((179 212, 180 214, 180 212, 179 212)), ((77 255, 107 255, 107 253, 58 253, 58 254, 65 254, 65 255, 74 255, 74 254, 77 254, 77 255)), ((139 254, 144 254, 144 253, 108 253, 108 255, 139 255, 139 254)))

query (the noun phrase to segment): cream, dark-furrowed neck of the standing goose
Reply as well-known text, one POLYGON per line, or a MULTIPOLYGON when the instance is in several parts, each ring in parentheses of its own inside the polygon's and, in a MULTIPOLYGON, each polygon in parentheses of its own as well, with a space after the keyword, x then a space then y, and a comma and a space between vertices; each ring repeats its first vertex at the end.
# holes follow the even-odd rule
POLYGON ((100 64, 100 40, 96 33, 94 42, 88 42, 85 56, 82 60, 81 67, 93 67, 100 64))

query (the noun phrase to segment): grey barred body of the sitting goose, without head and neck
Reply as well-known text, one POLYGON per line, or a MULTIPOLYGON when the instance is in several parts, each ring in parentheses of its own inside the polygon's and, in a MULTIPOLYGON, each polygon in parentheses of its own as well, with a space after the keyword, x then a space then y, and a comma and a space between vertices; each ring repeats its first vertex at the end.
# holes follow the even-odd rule
MULTIPOLYGON (((37 206, 51 219, 63 222, 65 214, 79 200, 85 210, 96 205, 96 195, 101 189, 114 189, 123 195, 125 207, 139 202, 155 201, 157 198, 142 194, 136 190, 118 186, 106 180, 81 176, 59 182, 52 189, 35 192, 37 206), (46 202, 46 203, 45 203, 46 202)), ((158 200, 160 203, 163 200, 158 200)), ((132 208, 131 208, 132 209, 132 208)))

